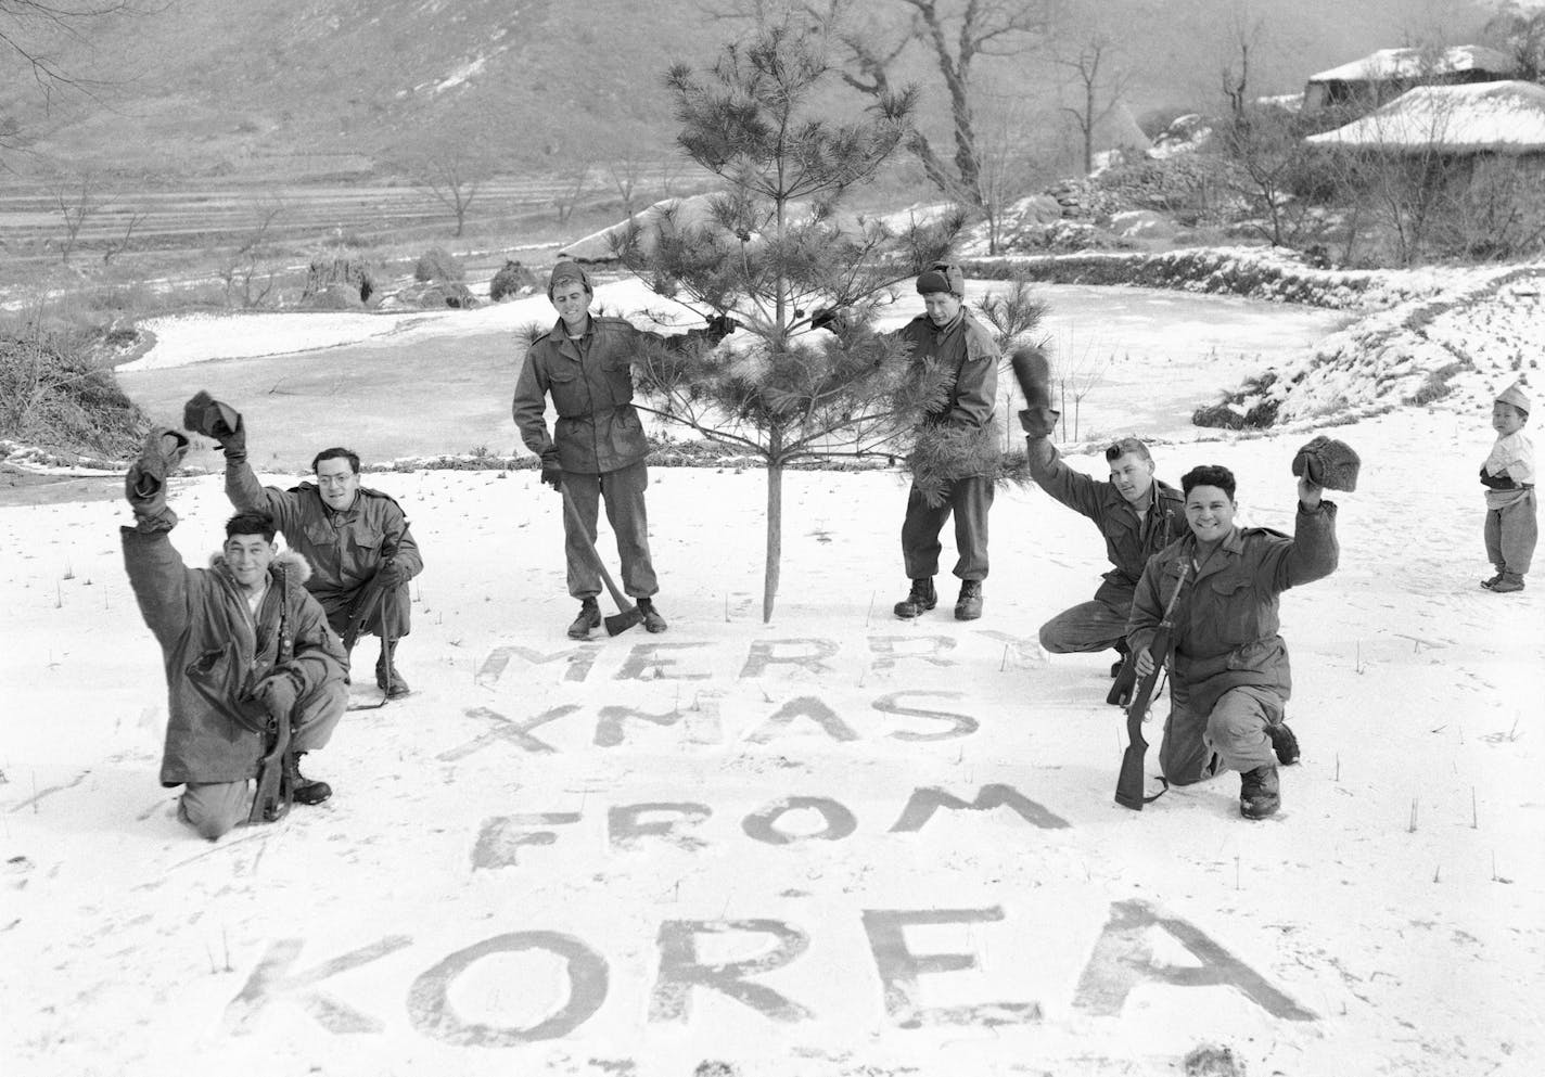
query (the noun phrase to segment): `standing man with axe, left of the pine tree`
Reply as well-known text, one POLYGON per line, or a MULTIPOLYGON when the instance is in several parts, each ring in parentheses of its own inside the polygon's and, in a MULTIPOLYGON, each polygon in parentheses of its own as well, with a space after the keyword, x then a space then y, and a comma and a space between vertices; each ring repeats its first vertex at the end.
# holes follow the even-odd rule
MULTIPOLYGON (((649 519, 644 488, 649 442, 633 408, 632 360, 646 334, 623 318, 590 317, 595 290, 584 269, 573 261, 553 266, 547 298, 558 309, 558 323, 531 341, 516 380, 511 413, 525 447, 542 460, 542 482, 567 491, 584 532, 564 513, 564 555, 569 593, 579 600, 579 615, 569 637, 586 640, 601 626, 601 575, 595 567, 595 525, 601 499, 606 519, 616 535, 623 559, 623 590, 638 601, 644 627, 664 632, 666 618, 655 609, 660 590, 649 556, 649 519), (547 396, 558 420, 547 433, 547 396)), ((663 337, 674 346, 688 341, 717 345, 735 331, 735 323, 717 315, 706 329, 663 337)))

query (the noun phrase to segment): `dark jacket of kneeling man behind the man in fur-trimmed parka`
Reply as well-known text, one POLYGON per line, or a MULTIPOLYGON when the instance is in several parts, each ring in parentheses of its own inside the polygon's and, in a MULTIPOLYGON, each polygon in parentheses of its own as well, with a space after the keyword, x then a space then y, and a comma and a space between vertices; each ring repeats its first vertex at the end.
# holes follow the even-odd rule
MULTIPOLYGON (((360 487, 352 505, 334 511, 315 484, 301 482, 290 490, 264 487, 243 460, 226 464, 226 496, 236 511, 266 511, 273 518, 284 541, 311 562, 306 590, 317 596, 329 617, 348 609, 358 589, 375 575, 383 550, 396 550, 405 579, 423 572, 423 558, 408 530, 408 518, 380 490, 360 487)), ((406 610, 402 617, 406 618, 406 610)))

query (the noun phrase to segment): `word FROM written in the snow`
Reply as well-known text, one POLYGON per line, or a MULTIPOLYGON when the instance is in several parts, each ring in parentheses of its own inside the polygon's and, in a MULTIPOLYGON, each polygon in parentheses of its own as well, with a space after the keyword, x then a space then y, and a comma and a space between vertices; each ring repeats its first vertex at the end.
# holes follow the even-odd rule
MULTIPOLYGON (((901 816, 891 825, 893 834, 910 834, 922 830, 939 808, 950 811, 992 811, 1012 808, 1024 822, 1041 830, 1066 830, 1068 820, 1010 785, 984 785, 975 800, 963 800, 941 788, 913 790, 901 816)), ((621 804, 606 813, 607 844, 613 850, 640 848, 652 842, 664 842, 677 848, 695 851, 706 842, 694 833, 712 816, 706 804, 650 802, 621 804)), ((518 816, 494 816, 485 819, 473 847, 473 868, 514 867, 521 847, 553 845, 558 831, 552 827, 570 827, 581 820, 578 811, 539 811, 518 816)), ((802 842, 837 842, 851 836, 859 827, 845 805, 831 797, 789 796, 757 808, 740 820, 740 828, 752 841, 765 845, 796 845, 802 842), (819 817, 819 828, 788 827, 788 816, 819 817)))

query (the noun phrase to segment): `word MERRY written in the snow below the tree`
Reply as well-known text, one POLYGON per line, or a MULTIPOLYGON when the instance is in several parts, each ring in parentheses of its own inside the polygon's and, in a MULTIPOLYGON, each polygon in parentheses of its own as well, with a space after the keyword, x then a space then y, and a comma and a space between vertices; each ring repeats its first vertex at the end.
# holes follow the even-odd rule
MULTIPOLYGON (((1037 644, 1034 638, 1020 638, 1006 632, 981 629, 975 635, 986 637, 1006 647, 1014 647, 1020 654, 1034 654, 1037 644)), ((868 643, 867 669, 895 669, 902 661, 921 661, 930 666, 958 664, 950 652, 956 649, 958 640, 949 635, 871 635, 868 643)), ((711 666, 701 664, 712 660, 715 651, 723 644, 703 641, 684 643, 637 643, 623 657, 623 664, 612 674, 613 680, 708 680, 714 677, 711 666)), ((762 677, 769 671, 803 669, 810 674, 830 674, 831 658, 842 647, 836 640, 797 638, 797 640, 757 640, 751 643, 746 660, 740 666, 737 677, 742 680, 762 677)), ((567 647, 544 654, 533 647, 504 646, 494 647, 477 668, 479 685, 494 685, 504 675, 511 658, 521 658, 533 666, 561 663, 564 680, 587 680, 603 655, 609 652, 601 644, 582 647, 567 647)), ((718 666, 722 668, 722 666, 718 666)))

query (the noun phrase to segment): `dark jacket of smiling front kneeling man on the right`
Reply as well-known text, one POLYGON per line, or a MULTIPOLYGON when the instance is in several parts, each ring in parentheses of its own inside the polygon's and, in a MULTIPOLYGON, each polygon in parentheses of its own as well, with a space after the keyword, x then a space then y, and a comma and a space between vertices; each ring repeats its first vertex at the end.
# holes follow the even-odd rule
MULTIPOLYGON (((1224 692, 1242 685, 1270 689, 1282 700, 1290 695, 1278 596, 1335 572, 1335 502, 1321 501, 1312 511, 1299 504, 1293 530, 1289 538, 1267 527, 1236 527, 1187 579, 1176 606, 1171 677, 1188 689, 1197 714, 1211 712, 1224 692)), ((1153 643, 1180 569, 1194 558, 1196 536, 1188 533, 1143 569, 1126 624, 1132 652, 1153 643)))

